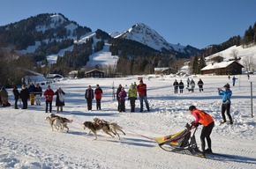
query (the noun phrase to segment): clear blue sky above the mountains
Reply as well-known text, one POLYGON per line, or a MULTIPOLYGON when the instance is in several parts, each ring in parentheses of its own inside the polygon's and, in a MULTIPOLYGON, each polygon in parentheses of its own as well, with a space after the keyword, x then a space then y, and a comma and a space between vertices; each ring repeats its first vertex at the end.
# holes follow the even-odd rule
POLYGON ((62 13, 93 31, 124 32, 144 23, 170 43, 205 48, 256 22, 255 0, 0 0, 0 26, 40 13, 62 13))

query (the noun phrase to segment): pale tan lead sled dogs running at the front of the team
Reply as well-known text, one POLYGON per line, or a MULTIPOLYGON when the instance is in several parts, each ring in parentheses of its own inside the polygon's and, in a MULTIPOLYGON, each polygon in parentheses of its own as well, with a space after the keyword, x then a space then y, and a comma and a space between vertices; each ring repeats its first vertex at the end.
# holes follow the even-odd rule
POLYGON ((67 129, 67 132, 69 131, 69 128, 67 126, 68 122, 72 122, 72 120, 66 119, 64 117, 60 117, 56 114, 50 114, 48 117, 45 118, 46 121, 49 121, 49 125, 51 126, 52 131, 54 130, 53 127, 55 127, 57 130, 61 129, 64 130, 67 129))

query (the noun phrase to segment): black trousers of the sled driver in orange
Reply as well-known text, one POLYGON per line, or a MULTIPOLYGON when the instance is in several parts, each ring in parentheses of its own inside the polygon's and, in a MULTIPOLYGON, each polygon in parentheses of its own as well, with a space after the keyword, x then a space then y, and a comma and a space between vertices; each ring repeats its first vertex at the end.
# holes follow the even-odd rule
POLYGON ((206 140, 205 140, 206 138, 207 138, 208 148, 212 149, 212 140, 210 138, 210 135, 211 135, 214 127, 215 127, 215 121, 209 123, 207 126, 204 126, 201 131, 200 140, 202 143, 202 151, 203 152, 206 150, 206 140))

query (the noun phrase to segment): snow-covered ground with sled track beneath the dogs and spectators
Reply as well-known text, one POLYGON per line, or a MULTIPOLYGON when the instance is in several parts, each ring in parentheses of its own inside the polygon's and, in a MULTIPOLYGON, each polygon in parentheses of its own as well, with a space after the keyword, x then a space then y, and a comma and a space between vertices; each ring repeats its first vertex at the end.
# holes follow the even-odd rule
MULTIPOLYGON (((136 101, 136 113, 130 113, 126 101, 126 113, 117 112, 117 101, 112 100, 112 83, 123 84, 125 90, 137 82, 137 77, 123 78, 85 78, 69 79, 51 84, 56 90, 61 86, 66 92, 64 112, 58 115, 72 119, 70 132, 51 131, 49 122, 45 121, 45 104, 28 106, 27 110, 16 110, 13 107, 0 107, 2 120, 0 130, 0 168, 256 168, 256 122, 251 117, 250 82, 255 89, 255 76, 248 80, 246 76, 237 76, 238 81, 233 91, 231 114, 234 125, 220 125, 222 120, 221 97, 217 95, 217 87, 231 83, 226 76, 193 77, 197 83, 201 78, 204 92, 184 91, 174 94, 173 82, 177 78, 184 82, 187 77, 151 77, 144 76, 147 84, 150 112, 139 113, 139 100, 136 101), (95 88, 100 84, 104 92, 102 110, 87 111, 84 92, 87 85, 95 88), (127 85, 127 86, 126 86, 127 85), (193 120, 188 107, 195 105, 215 118, 212 133, 213 151, 229 155, 233 158, 211 160, 180 155, 162 151, 154 141, 154 136, 174 134, 184 129, 187 122, 193 120), (102 131, 98 139, 93 134, 85 136, 88 130, 82 128, 84 121, 92 121, 94 117, 106 121, 117 122, 124 128, 126 136, 120 134, 110 137, 102 131)), ((46 86, 42 86, 43 90, 46 86)), ((13 106, 13 96, 8 90, 13 106)), ((255 105, 256 91, 253 91, 255 105)), ((55 103, 53 103, 55 105, 55 103)), ((56 107, 53 107, 56 113, 56 107)), ((253 110, 255 106, 253 106, 253 110)), ((254 114, 256 115, 256 114, 254 114)), ((200 127, 201 129, 201 127, 200 127)), ((196 138, 200 146, 200 129, 196 138)))

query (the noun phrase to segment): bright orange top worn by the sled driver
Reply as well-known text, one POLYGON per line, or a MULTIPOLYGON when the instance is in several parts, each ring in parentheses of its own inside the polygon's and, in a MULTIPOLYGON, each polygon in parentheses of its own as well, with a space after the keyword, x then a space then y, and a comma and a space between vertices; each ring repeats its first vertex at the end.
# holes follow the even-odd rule
POLYGON ((209 123, 213 122, 214 119, 210 114, 205 113, 199 109, 193 109, 192 111, 193 116, 196 118, 195 123, 200 122, 202 125, 207 126, 209 123))

